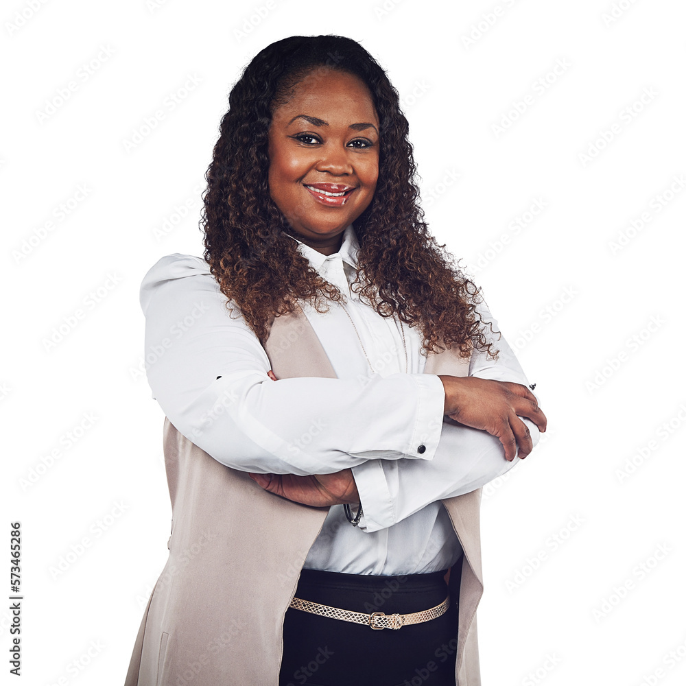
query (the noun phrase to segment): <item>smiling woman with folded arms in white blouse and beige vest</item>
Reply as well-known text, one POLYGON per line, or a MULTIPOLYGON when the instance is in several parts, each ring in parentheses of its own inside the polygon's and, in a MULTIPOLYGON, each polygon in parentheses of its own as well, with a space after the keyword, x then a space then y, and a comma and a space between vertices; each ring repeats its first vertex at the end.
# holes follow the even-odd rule
POLYGON ((340 36, 233 87, 205 259, 141 285, 173 519, 127 685, 480 683, 479 488, 545 416, 422 221, 407 128, 340 36))

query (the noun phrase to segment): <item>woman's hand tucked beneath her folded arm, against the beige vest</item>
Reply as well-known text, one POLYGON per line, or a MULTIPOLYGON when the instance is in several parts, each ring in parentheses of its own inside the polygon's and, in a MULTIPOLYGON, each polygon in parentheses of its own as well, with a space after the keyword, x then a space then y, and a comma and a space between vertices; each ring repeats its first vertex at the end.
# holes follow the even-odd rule
POLYGON ((317 508, 359 503, 353 472, 343 469, 333 474, 252 474, 248 476, 274 495, 317 508))

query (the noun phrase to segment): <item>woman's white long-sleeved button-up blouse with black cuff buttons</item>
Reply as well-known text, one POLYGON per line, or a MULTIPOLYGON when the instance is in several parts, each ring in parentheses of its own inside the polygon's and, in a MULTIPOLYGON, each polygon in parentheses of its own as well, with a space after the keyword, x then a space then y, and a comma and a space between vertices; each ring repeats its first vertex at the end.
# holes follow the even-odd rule
MULTIPOLYGON (((385 576, 447 569, 462 550, 440 499, 484 486, 519 458, 508 462, 486 431, 443 423, 445 392, 437 375, 423 373, 421 333, 379 316, 351 292, 359 250, 352 224, 334 255, 302 241, 298 248, 346 296, 347 315, 339 303, 327 313, 300 303, 338 378, 270 379, 257 336, 235 305, 227 309, 206 261, 175 253, 141 283, 153 398, 181 434, 234 469, 306 475, 352 468, 359 526, 348 523, 343 506, 331 507, 305 567, 385 576)), ((477 310, 498 331, 486 303, 477 310)), ((485 335, 499 359, 473 351, 469 375, 528 386, 505 338, 488 326, 485 335)), ((536 445, 536 425, 523 421, 536 445)))

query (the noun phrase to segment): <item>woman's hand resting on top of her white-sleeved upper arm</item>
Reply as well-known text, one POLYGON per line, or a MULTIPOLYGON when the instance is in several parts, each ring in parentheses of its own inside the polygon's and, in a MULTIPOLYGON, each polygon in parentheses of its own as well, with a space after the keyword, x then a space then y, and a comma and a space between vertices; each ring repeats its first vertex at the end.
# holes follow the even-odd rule
POLYGON ((506 460, 514 460, 518 445, 521 459, 533 449, 530 431, 519 416, 545 431, 545 414, 536 404, 534 394, 521 383, 447 374, 438 378, 445 389, 445 414, 460 424, 497 436, 506 460))

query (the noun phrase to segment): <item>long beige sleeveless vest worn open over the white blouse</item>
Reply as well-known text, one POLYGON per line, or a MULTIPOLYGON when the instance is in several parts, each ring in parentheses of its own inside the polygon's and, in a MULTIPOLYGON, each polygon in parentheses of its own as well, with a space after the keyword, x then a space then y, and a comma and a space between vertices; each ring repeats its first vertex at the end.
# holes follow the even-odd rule
MULTIPOLYGON (((300 308, 274 319, 264 347, 277 379, 336 377, 300 308)), ((431 353, 425 373, 465 376, 468 362, 450 349, 431 353)), ((194 445, 168 418, 164 454, 169 560, 145 608, 125 686, 278 686, 283 617, 329 508, 268 493, 194 445)), ((459 597, 458 686, 481 683, 480 501, 481 490, 442 501, 464 549, 449 579, 459 597)))

